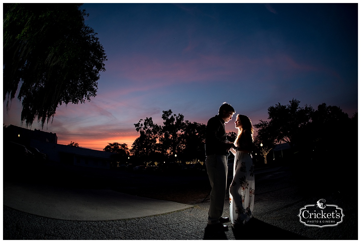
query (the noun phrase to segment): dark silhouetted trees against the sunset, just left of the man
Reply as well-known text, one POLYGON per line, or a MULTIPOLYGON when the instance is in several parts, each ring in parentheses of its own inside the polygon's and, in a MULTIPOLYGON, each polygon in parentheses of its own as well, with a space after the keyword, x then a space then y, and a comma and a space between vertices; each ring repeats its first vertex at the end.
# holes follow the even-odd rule
POLYGON ((184 121, 182 114, 171 110, 164 110, 162 118, 163 125, 155 124, 152 117, 134 124, 140 136, 132 144, 132 156, 143 162, 204 161, 205 125, 184 121))

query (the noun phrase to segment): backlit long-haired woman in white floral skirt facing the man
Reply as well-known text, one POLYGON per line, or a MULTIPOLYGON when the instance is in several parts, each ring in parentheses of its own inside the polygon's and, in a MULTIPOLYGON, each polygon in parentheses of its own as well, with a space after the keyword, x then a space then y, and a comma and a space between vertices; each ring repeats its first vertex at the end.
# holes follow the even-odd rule
POLYGON ((238 137, 231 152, 235 155, 233 181, 229 188, 230 220, 238 228, 252 218, 255 202, 255 177, 251 157, 253 127, 251 120, 238 114, 235 121, 238 137))

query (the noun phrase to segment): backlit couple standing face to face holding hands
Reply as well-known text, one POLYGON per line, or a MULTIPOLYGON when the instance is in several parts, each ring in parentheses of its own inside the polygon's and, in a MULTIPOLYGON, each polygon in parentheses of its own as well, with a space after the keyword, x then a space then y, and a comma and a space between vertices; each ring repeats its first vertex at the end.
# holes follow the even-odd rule
POLYGON ((255 179, 251 157, 253 127, 247 116, 238 114, 235 127, 238 136, 234 143, 227 140, 225 124, 232 120, 234 108, 227 103, 219 107, 218 115, 209 119, 206 126, 205 152, 209 182, 210 205, 207 228, 228 230, 224 223, 231 221, 235 229, 251 217, 254 204, 255 179), (229 188, 230 217, 222 217, 227 190, 227 157, 234 154, 233 180, 229 188))

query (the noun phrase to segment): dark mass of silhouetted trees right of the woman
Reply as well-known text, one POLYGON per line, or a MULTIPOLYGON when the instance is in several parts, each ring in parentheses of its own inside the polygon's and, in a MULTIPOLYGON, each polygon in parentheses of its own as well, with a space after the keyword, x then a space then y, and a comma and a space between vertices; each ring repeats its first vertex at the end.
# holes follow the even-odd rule
POLYGON ((290 144, 291 153, 284 158, 287 165, 304 185, 315 191, 327 187, 333 192, 345 191, 357 185, 357 120, 340 107, 318 105, 317 110, 300 101, 290 100, 268 108, 268 121, 255 124, 255 149, 274 147, 276 143, 290 144))

